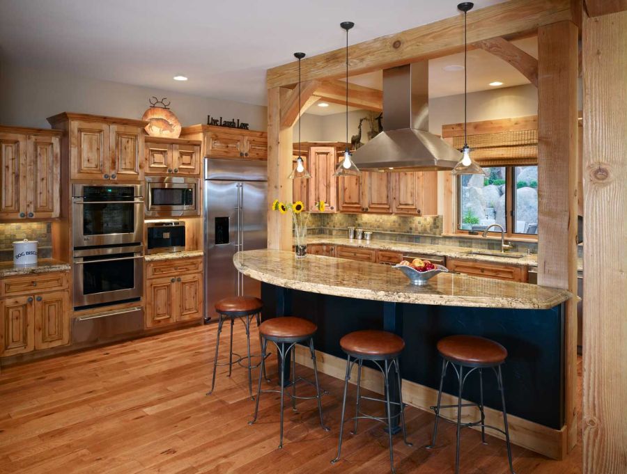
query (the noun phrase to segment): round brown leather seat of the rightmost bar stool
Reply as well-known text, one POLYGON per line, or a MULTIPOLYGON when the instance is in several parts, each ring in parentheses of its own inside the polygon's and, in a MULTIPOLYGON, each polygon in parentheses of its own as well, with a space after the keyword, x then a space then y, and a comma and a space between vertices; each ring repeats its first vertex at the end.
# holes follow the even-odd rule
POLYGON ((475 335, 451 335, 438 341, 438 351, 445 358, 470 365, 500 365, 507 349, 498 342, 475 335))

